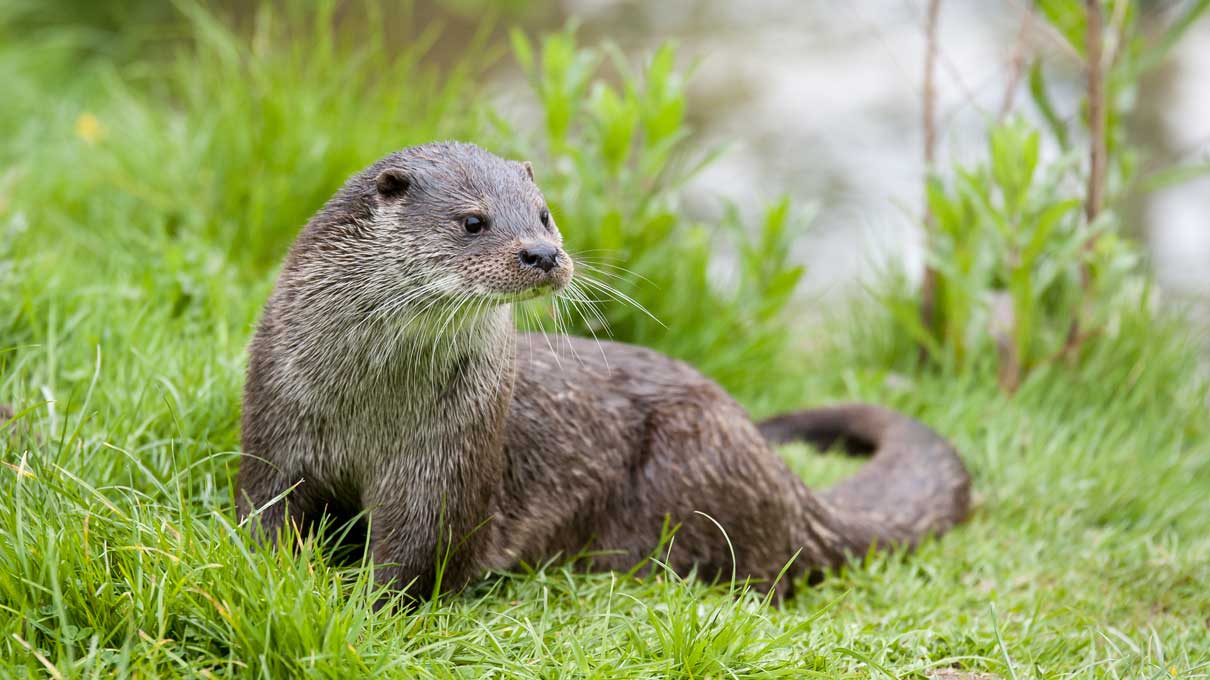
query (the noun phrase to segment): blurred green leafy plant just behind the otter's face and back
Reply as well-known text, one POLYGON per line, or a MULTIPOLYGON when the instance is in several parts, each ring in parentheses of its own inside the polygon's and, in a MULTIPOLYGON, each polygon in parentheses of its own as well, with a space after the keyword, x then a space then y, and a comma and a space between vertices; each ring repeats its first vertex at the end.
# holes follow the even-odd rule
POLYGON ((718 151, 686 143, 675 47, 635 65, 609 45, 581 47, 575 29, 536 46, 513 31, 512 44, 544 125, 536 140, 500 125, 519 140, 513 152, 534 159, 581 272, 582 302, 559 325, 659 347, 741 394, 777 382, 771 357, 793 355, 800 224, 786 200, 756 225, 734 207, 718 224, 686 214, 681 189, 718 151))

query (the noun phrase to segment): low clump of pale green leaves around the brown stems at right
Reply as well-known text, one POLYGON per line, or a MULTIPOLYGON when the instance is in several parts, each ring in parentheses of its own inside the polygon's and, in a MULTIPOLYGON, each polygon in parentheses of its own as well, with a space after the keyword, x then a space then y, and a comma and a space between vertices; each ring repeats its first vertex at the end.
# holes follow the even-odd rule
MULTIPOLYGON (((1039 146, 1039 132, 1012 119, 989 131, 984 162, 955 167, 949 181, 930 178, 934 327, 920 322, 912 296, 887 298, 932 358, 962 370, 998 357, 1010 388, 1062 352, 1084 299, 1082 269, 1095 273, 1095 298, 1116 302, 1137 263, 1114 234, 1112 213, 1093 224, 1084 219, 1079 157, 1043 163, 1039 146), (1095 236, 1096 246, 1085 248, 1095 236)), ((1100 305, 1096 313, 1111 309, 1100 305)))

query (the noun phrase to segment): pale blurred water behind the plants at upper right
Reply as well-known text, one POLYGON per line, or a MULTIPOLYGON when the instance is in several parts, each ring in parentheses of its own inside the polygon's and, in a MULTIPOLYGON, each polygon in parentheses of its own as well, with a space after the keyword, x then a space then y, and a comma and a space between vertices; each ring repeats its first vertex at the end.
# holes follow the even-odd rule
MULTIPOLYGON (((1026 1, 943 2, 940 161, 981 152, 986 121, 1008 91, 1026 1)), ((627 51, 673 39, 699 62, 691 111, 704 140, 726 143, 731 152, 692 185, 696 211, 719 209, 711 197, 720 195, 750 209, 782 192, 816 203, 800 255, 808 292, 823 296, 855 289, 891 260, 918 271, 923 0, 564 0, 563 11, 627 51)), ((1056 52, 1037 29, 1028 45, 1056 52)), ((1071 59, 1064 74, 1058 57, 1058 81, 1066 76, 1071 85, 1058 98, 1074 115, 1081 74, 1071 59)), ((1210 159, 1208 74, 1210 24, 1203 21, 1162 74, 1170 79, 1164 97, 1142 102, 1159 106, 1159 115, 1141 117, 1163 129, 1141 137, 1165 139, 1165 152, 1186 160, 1210 159)), ((1025 98, 1015 96, 1019 104, 1025 98)), ((1136 231, 1162 284, 1210 299, 1210 179, 1154 194, 1136 208, 1130 214, 1143 220, 1136 231)))

